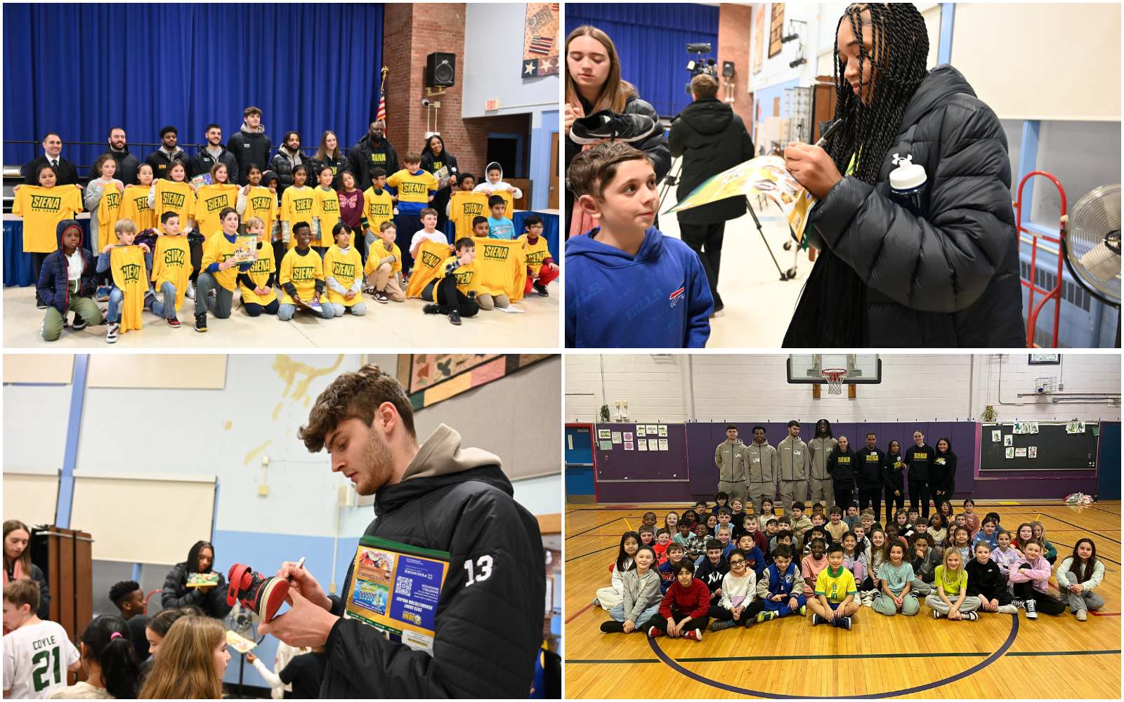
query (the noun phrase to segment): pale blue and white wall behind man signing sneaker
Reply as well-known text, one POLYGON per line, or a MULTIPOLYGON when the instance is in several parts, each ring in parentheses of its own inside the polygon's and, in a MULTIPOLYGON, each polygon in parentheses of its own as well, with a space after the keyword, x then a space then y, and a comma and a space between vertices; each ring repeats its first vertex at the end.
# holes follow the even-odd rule
MULTIPOLYGON (((88 359, 76 356, 75 379, 88 359)), ((330 472, 326 453, 308 453, 297 430, 328 383, 362 363, 395 373, 398 357, 230 354, 221 390, 85 388, 83 392, 73 384, 6 384, 3 467, 61 471, 61 501, 69 499, 65 485, 74 468, 216 475, 211 541, 217 571, 225 573, 237 562, 269 572, 282 560, 305 556, 317 581, 325 589, 335 583, 338 592, 359 537, 372 519, 372 508, 336 507, 338 487, 345 481, 330 472), (69 430, 78 431, 73 454, 65 450, 69 430), (270 462, 263 473, 262 456, 266 455, 270 462), (263 483, 269 485, 265 496, 259 494, 263 483)), ((558 514, 561 409, 556 400, 544 400, 527 417, 528 393, 559 396, 561 358, 418 410, 415 426, 419 441, 445 422, 461 431, 465 445, 496 453, 509 476, 515 472, 528 476, 513 481, 516 500, 534 514, 558 514), (518 419, 524 417, 526 421, 518 419)), ((107 504, 106 509, 130 519, 128 504, 107 504)), ((174 510, 175 504, 170 502, 167 509, 174 510)), ((145 538, 145 525, 136 523, 135 534, 145 538)), ((187 553, 171 554, 169 562, 185 558, 187 553)), ((107 596, 112 583, 139 575, 148 592, 163 585, 169 569, 167 565, 94 562, 94 612, 117 613, 107 596)), ((160 595, 153 595, 149 609, 158 609, 158 602, 160 595)), ((266 637, 259 649, 271 666, 275 648, 277 640, 266 637)), ((238 680, 234 660, 226 680, 238 680)), ((268 686, 252 666, 246 666, 244 682, 268 686)))

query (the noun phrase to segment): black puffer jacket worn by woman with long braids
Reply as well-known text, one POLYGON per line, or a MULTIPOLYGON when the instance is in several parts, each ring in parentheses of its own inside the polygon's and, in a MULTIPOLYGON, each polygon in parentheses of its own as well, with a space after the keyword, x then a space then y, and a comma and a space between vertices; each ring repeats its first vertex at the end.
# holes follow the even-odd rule
MULTIPOLYGON (((940 65, 914 93, 882 158, 876 185, 843 177, 808 225, 813 246, 835 254, 823 264, 850 266, 867 285, 863 345, 1025 346, 1010 159, 991 108, 959 71, 940 65), (925 167, 927 220, 889 199, 894 154, 912 154, 925 167)), ((807 308, 801 300, 799 314, 831 318, 837 293, 828 284, 823 299, 807 308)), ((828 343, 796 340, 808 319, 794 317, 792 325, 786 346, 828 343)))

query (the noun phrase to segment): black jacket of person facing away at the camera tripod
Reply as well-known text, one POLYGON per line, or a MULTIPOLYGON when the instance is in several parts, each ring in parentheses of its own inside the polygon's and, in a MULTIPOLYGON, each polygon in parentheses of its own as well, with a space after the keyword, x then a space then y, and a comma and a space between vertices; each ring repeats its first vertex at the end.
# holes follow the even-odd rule
MULTIPOLYGON (((753 140, 734 108, 717 98, 699 98, 671 122, 671 157, 683 157, 676 197, 682 200, 708 177, 753 158, 753 140)), ((706 225, 745 215, 745 198, 726 198, 676 212, 680 222, 706 225)))

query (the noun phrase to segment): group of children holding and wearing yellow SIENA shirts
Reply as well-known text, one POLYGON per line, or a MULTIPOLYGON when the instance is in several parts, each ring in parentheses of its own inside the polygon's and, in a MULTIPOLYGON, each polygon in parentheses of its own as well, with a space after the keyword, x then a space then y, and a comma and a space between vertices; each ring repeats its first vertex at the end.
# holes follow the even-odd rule
POLYGON ((332 188, 332 168, 320 170, 318 183, 309 188, 308 167, 296 165, 293 184, 279 197, 278 175, 253 164, 243 188, 230 183, 224 163, 211 167, 209 182, 189 181, 183 161, 173 161, 166 179, 155 180, 152 166, 143 164, 137 183, 126 185, 114 179, 114 158, 103 155, 93 166, 100 177, 87 185, 83 202, 81 190, 56 186, 56 171, 44 165, 39 185, 18 186, 12 208, 24 217, 24 250, 33 253, 38 281, 36 304, 46 310, 40 335, 56 340, 70 312, 75 331, 108 322, 109 344, 119 334, 140 328, 142 310, 179 328, 176 311, 184 298, 194 300, 194 329, 207 331, 208 314, 230 316, 236 291, 251 317, 277 314, 285 321, 301 310, 321 319, 348 310, 362 316, 366 294, 379 303, 423 298, 436 303, 425 306, 425 312, 448 314, 454 325, 477 309, 522 311, 510 308, 505 294, 515 284, 518 290, 513 289, 513 295, 532 291, 547 295, 546 285, 558 277, 559 266, 542 236, 542 218, 527 216, 526 230, 516 236, 509 218, 515 189, 502 182, 498 164, 489 164, 488 181, 479 185, 471 174, 460 175, 450 208, 461 215, 457 229, 463 236, 450 245, 436 229, 437 211, 428 207, 438 183, 420 168, 420 161, 419 154, 409 152, 406 167, 397 173, 388 176, 384 170, 372 168, 359 226, 345 222, 341 212, 341 197, 346 200, 357 192, 355 179, 341 179, 343 189, 337 192, 332 188), (466 200, 487 198, 490 217, 471 217, 470 225, 468 218, 479 208, 462 203, 462 194, 466 200), (91 212, 90 244, 97 237, 96 246, 83 245, 83 229, 74 219, 83 204, 91 212), (424 286, 416 294, 408 292, 409 271, 404 270, 396 245, 399 220, 420 226, 409 233, 407 262, 417 261, 424 241, 433 244, 428 253, 439 255, 439 265, 429 266, 434 272, 426 276, 434 282, 428 293, 424 286), (256 235, 256 255, 238 235, 256 235), (507 288, 497 290, 487 281, 481 288, 482 276, 472 265, 475 241, 481 240, 519 245, 522 258, 511 271, 520 275, 508 274, 507 288), (91 249, 97 253, 91 255, 91 249), (455 280, 455 285, 438 285, 445 277, 455 280), (98 302, 108 306, 100 309, 98 302))

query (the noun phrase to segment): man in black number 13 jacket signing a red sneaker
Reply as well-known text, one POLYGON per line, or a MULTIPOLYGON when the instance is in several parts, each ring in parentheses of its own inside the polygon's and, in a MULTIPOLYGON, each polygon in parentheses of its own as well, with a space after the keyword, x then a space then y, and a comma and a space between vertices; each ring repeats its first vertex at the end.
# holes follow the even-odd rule
POLYGON ((284 563, 292 609, 259 632, 326 647, 321 698, 526 698, 543 638, 542 537, 499 458, 462 448, 444 425, 419 447, 406 391, 375 365, 333 381, 298 437, 312 453, 327 447, 332 469, 375 496, 366 535, 452 557, 428 651, 343 617, 351 568, 341 596, 328 596, 284 563))

